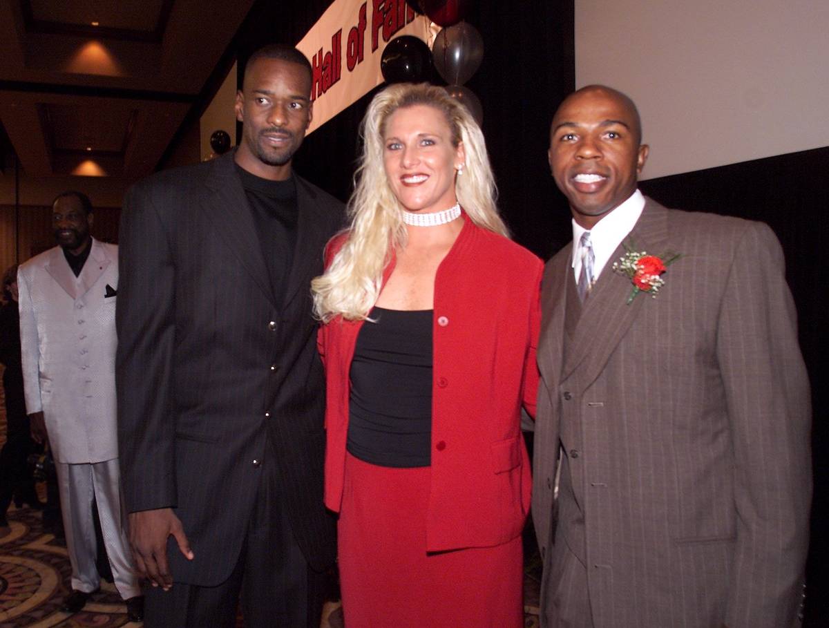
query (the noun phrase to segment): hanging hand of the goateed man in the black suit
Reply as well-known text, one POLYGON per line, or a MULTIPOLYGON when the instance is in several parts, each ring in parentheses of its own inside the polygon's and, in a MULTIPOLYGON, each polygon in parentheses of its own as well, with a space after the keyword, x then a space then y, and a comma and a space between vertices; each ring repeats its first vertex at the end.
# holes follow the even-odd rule
POLYGON ((175 537, 179 551, 187 560, 192 560, 194 554, 187 535, 172 508, 129 514, 129 544, 133 548, 138 573, 148 578, 153 587, 162 587, 164 591, 172 587, 172 574, 167 566, 167 537, 170 534, 175 537))

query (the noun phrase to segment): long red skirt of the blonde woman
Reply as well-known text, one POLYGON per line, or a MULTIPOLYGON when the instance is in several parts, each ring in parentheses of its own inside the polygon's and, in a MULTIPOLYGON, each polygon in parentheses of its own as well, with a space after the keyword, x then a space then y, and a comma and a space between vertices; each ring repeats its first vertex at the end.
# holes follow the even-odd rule
POLYGON ((521 628, 521 537, 427 553, 430 475, 347 454, 337 528, 347 628, 521 628))

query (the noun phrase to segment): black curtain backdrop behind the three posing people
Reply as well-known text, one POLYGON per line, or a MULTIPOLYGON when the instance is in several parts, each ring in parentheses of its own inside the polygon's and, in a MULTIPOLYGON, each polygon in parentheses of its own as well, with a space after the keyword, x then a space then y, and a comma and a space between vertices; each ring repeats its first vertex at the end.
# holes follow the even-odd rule
MULTIPOLYGON (((265 43, 299 41, 328 4, 258 2, 236 40, 240 67, 265 43)), ((483 104, 499 205, 515 239, 549 258, 570 240, 569 211, 550 178, 546 151, 550 118, 574 89, 573 0, 473 4, 467 21, 481 32, 485 51, 480 70, 467 85, 483 104)), ((437 77, 435 82, 440 82, 437 77)), ((303 176, 342 200, 351 191, 357 127, 371 95, 306 138, 295 160, 303 176)), ((824 538, 829 523, 829 381, 823 358, 829 349, 823 325, 829 281, 827 267, 816 261, 817 253, 829 247, 827 172, 829 148, 822 148, 642 183, 643 191, 671 207, 764 220, 783 243, 815 408, 811 595, 804 624, 809 628, 829 626, 829 541, 824 538)))

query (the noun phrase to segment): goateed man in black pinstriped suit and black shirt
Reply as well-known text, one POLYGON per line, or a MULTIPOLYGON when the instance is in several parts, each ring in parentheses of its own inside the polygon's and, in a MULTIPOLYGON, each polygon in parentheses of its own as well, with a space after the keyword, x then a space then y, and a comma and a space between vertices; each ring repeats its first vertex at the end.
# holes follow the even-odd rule
POLYGON ((146 624, 319 626, 335 555, 322 506, 322 365, 310 281, 342 204, 293 174, 312 70, 246 66, 240 146, 127 195, 119 446, 146 624))

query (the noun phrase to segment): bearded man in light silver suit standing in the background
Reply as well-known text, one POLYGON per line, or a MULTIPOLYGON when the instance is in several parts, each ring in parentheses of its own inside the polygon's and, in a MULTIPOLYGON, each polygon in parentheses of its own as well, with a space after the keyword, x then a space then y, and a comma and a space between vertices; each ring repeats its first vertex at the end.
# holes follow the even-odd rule
POLYGON ((72 563, 72 592, 61 610, 80 611, 98 590, 97 505, 115 587, 129 621, 139 621, 143 597, 129 551, 115 426, 118 247, 91 236, 93 217, 85 194, 58 195, 58 246, 17 271, 23 387, 32 437, 48 442, 60 486, 72 563))

